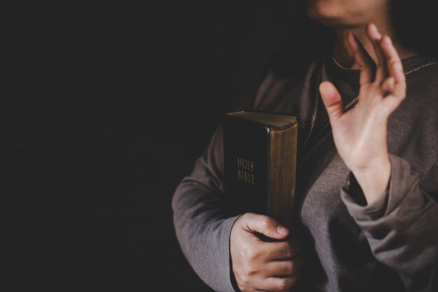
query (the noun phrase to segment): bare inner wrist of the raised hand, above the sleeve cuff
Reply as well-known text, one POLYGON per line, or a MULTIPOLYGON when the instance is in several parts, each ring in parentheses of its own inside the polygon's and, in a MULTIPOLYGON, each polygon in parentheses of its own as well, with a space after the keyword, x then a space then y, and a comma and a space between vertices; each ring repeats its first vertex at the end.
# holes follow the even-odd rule
POLYGON ((389 155, 369 167, 351 169, 351 172, 362 188, 367 204, 370 204, 388 190, 391 174, 389 155))

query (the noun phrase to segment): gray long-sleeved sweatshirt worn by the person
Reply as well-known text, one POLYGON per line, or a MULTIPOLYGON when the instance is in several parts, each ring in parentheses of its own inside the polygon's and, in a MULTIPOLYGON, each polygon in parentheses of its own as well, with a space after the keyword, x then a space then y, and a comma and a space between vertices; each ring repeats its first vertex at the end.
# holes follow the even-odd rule
MULTIPOLYGON (((388 190, 367 205, 339 157, 320 101, 311 139, 304 140, 318 84, 337 86, 344 104, 358 95, 359 72, 327 55, 280 57, 238 109, 297 116, 296 222, 304 246, 302 279, 292 291, 438 291, 438 64, 423 55, 404 59, 407 98, 390 116, 388 190)), ((222 129, 176 189, 172 207, 181 249, 199 277, 216 291, 233 283, 225 214, 222 129)))

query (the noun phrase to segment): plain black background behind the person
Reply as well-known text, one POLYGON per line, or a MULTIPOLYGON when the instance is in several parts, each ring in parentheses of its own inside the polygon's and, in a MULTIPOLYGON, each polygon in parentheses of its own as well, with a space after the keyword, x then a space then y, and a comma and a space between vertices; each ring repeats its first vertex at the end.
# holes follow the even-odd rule
MULTIPOLYGON (((0 150, 17 291, 209 291, 178 246, 171 197, 290 41, 296 1, 155 2, 6 11, 0 150)), ((437 24, 421 9, 398 20, 417 42, 437 24)))

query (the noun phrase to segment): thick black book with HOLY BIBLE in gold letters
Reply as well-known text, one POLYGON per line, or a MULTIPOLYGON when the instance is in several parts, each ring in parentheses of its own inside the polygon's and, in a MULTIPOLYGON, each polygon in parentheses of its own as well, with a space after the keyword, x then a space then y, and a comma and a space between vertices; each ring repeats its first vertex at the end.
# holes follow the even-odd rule
POLYGON ((264 214, 292 228, 297 130, 296 118, 284 114, 225 115, 225 193, 231 214, 264 214))

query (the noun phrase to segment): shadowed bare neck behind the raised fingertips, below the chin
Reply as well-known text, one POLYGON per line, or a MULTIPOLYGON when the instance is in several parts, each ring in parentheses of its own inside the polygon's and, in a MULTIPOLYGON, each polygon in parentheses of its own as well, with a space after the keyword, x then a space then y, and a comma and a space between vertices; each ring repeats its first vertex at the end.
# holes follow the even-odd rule
MULTIPOLYGON (((381 34, 387 34, 392 39, 395 49, 399 53, 400 59, 404 59, 407 57, 411 57, 416 55, 414 50, 409 50, 408 48, 402 46, 402 44, 395 38, 395 34, 393 34, 394 30, 388 26, 377 25, 381 34)), ((334 59, 337 60, 339 64, 343 67, 351 68, 351 69, 359 69, 358 65, 355 64, 353 54, 351 53, 350 48, 348 48, 347 43, 347 34, 348 32, 353 32, 355 36, 359 39, 364 46, 365 50, 367 50, 368 54, 374 62, 377 62, 376 54, 374 53, 374 48, 372 43, 367 38, 367 34, 365 33, 365 26, 361 27, 343 27, 339 29, 335 29, 336 34, 336 42, 334 43, 334 59)))

